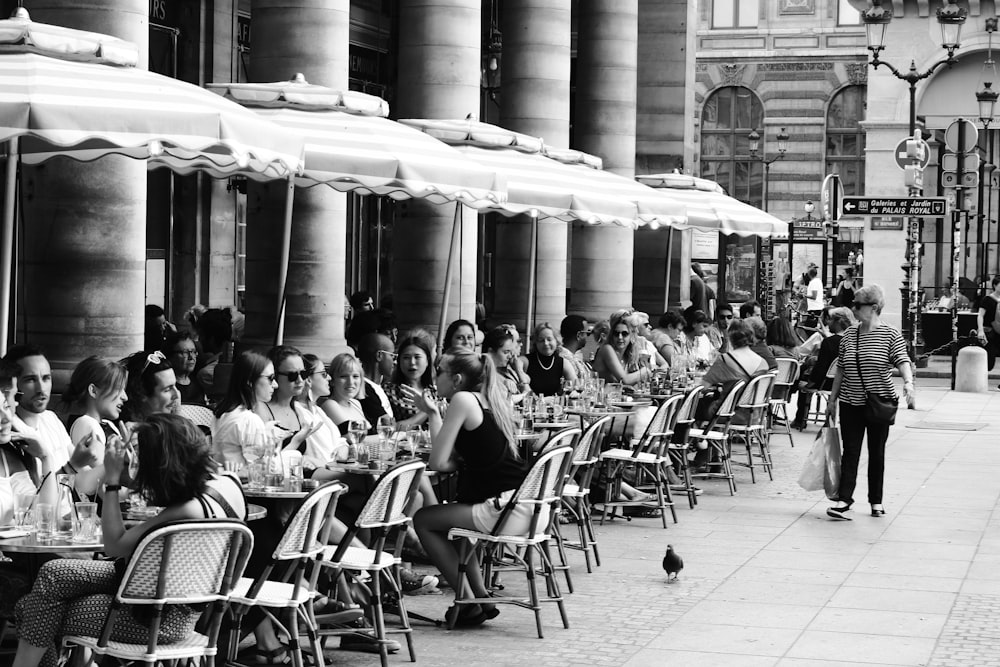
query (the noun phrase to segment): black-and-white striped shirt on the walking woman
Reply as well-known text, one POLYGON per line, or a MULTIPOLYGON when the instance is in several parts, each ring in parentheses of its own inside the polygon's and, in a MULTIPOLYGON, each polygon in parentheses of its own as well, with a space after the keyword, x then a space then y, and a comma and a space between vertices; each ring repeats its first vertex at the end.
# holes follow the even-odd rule
MULTIPOLYGON (((892 386, 892 369, 909 362, 906 342, 898 329, 880 324, 874 329, 861 331, 856 324, 840 339, 838 355, 843 373, 839 400, 851 405, 864 405, 865 393, 879 396, 896 396, 892 386), (858 375, 861 371, 864 376, 858 375)), ((897 397, 898 398, 898 397, 897 397)))

